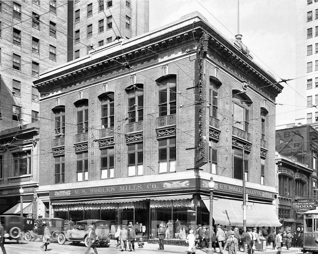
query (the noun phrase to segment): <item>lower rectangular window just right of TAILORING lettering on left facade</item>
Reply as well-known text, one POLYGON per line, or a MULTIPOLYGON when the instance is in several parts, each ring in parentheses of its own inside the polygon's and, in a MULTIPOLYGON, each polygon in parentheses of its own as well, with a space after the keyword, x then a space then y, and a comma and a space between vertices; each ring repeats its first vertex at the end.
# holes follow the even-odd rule
POLYGON ((143 143, 127 145, 127 175, 137 176, 143 174, 143 143))

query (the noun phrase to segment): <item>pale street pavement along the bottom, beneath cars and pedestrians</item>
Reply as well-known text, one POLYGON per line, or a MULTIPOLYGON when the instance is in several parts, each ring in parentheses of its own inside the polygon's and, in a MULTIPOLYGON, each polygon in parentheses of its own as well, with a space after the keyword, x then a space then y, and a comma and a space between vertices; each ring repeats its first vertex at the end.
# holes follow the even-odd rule
MULTIPOLYGON (((51 253, 51 254, 75 254, 75 253, 84 253, 86 251, 86 247, 84 243, 80 243, 79 245, 74 245, 73 243, 66 242, 63 245, 57 244, 57 243, 51 243, 48 245, 49 251, 44 251, 44 248, 41 249, 43 246, 42 242, 24 242, 23 244, 17 244, 16 241, 9 241, 6 240, 5 242, 5 249, 7 251, 7 254, 35 254, 35 253, 51 253)), ((99 254, 108 254, 108 253, 121 253, 119 249, 115 249, 116 241, 111 240, 110 247, 108 248, 102 248, 97 245, 97 251, 99 254)), ((127 246, 128 247, 128 246, 127 246)), ((140 254, 158 254, 158 253, 187 253, 187 247, 185 246, 174 246, 174 245, 165 245, 164 251, 158 250, 157 244, 147 244, 145 243, 143 249, 138 248, 138 244, 135 243, 135 252, 140 252, 140 254)), ((129 248, 127 249, 129 251, 129 248)), ((94 253, 94 251, 91 249, 90 253, 94 253)), ((124 253, 126 253, 124 251, 124 253)), ((206 253, 206 250, 197 250, 197 254, 203 254, 206 253)), ((272 248, 267 248, 266 251, 256 251, 255 253, 262 253, 262 254, 275 254, 276 250, 273 250, 272 248)), ((301 254, 301 248, 291 248, 289 251, 287 251, 285 248, 282 250, 282 254, 301 254)), ((225 251, 225 254, 228 254, 227 251, 225 251)), ((244 254, 243 251, 239 251, 239 254, 244 254)))

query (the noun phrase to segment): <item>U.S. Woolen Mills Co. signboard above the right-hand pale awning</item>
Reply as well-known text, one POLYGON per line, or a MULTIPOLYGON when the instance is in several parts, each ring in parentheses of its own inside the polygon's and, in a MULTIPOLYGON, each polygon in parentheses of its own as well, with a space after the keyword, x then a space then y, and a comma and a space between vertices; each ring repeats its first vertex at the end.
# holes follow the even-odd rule
MULTIPOLYGON (((209 188, 209 182, 206 180, 203 180, 201 182, 201 186, 203 188, 209 188)), ((238 185, 215 182, 214 191, 225 192, 230 194, 239 194, 243 196, 243 187, 238 185)), ((263 198, 263 199, 274 199, 275 197, 274 192, 266 192, 263 190, 257 190, 252 188, 245 188, 245 193, 246 195, 248 195, 248 197, 257 197, 257 198, 263 198)))

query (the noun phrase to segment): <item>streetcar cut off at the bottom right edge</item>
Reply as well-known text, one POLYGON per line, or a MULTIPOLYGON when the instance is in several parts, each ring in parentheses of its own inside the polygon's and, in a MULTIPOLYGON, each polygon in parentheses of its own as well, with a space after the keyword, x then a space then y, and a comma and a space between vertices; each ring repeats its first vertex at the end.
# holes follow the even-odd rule
POLYGON ((318 206, 304 212, 303 253, 318 254, 318 206))

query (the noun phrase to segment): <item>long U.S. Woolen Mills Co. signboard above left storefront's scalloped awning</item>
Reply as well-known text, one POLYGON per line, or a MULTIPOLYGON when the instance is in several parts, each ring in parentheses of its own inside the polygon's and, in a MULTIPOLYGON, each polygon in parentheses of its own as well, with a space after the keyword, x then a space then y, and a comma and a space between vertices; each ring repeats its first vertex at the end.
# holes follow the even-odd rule
POLYGON ((89 196, 113 196, 114 194, 130 194, 130 193, 144 193, 144 192, 161 192, 169 190, 190 189, 195 187, 195 179, 183 179, 177 181, 162 181, 140 184, 126 184, 126 185, 109 185, 76 188, 67 190, 50 191, 50 198, 69 198, 69 197, 85 197, 89 196))

